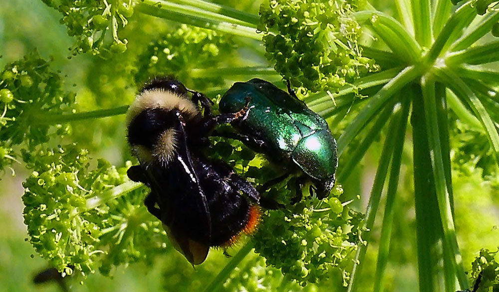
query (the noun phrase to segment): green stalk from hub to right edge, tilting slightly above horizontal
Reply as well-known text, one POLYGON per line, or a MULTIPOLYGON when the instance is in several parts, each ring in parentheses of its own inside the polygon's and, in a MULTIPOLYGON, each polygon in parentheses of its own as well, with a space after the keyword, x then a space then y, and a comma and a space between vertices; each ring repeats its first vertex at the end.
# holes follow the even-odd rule
POLYGON ((493 41, 482 46, 468 48, 453 54, 446 58, 446 64, 453 66, 455 64, 486 64, 499 61, 499 41, 493 41))

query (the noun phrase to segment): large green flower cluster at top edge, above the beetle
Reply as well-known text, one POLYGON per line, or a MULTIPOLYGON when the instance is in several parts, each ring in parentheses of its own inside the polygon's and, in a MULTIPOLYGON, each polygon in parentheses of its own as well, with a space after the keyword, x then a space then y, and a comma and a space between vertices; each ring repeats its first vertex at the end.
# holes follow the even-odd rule
POLYGON ((377 70, 362 57, 360 25, 353 18, 362 0, 270 0, 260 6, 258 29, 268 60, 295 87, 337 91, 377 70), (274 34, 276 32, 276 34, 274 34))

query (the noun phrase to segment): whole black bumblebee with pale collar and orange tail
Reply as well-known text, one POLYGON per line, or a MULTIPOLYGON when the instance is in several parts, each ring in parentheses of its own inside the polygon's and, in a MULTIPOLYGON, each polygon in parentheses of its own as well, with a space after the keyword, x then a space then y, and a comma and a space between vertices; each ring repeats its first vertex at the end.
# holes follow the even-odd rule
POLYGON ((210 247, 253 232, 260 216, 260 195, 250 182, 202 152, 216 125, 242 119, 248 109, 214 116, 210 103, 174 78, 156 78, 127 114, 128 143, 139 160, 128 176, 151 189, 147 209, 192 265, 203 263, 210 247))

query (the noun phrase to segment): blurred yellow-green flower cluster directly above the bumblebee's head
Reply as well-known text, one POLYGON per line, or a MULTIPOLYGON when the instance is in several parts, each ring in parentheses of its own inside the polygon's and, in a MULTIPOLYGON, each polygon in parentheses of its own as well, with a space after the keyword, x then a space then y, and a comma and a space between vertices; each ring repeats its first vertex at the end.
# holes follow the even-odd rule
POLYGON ((182 24, 151 42, 138 57, 135 81, 142 84, 151 76, 174 75, 197 90, 220 86, 224 83, 223 76, 206 73, 204 68, 216 68, 230 61, 234 49, 235 44, 228 35, 182 24))

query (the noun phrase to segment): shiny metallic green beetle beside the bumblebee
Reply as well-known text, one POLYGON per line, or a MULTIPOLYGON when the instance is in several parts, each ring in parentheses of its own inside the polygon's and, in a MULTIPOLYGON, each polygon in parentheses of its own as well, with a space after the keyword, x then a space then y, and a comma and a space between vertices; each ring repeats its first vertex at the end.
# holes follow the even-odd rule
POLYGON ((288 91, 257 78, 235 83, 222 97, 220 112, 236 113, 244 107, 249 107, 249 111, 233 124, 238 133, 225 136, 266 154, 270 161, 288 171, 269 184, 298 170, 312 181, 317 197, 322 199, 335 181, 336 140, 326 121, 296 97, 289 83, 288 91))

